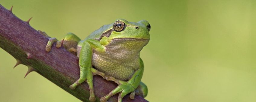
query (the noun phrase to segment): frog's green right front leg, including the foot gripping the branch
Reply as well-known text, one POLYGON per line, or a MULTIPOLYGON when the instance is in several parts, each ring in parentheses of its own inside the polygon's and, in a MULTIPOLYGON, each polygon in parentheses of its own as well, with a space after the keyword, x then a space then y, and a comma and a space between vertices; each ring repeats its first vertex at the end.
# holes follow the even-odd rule
POLYGON ((139 86, 144 71, 143 61, 140 59, 139 69, 133 73, 133 76, 127 81, 119 81, 120 85, 112 90, 109 94, 101 98, 101 102, 106 102, 111 96, 119 93, 118 102, 122 102, 123 97, 131 93, 130 98, 134 98, 135 89, 139 86))

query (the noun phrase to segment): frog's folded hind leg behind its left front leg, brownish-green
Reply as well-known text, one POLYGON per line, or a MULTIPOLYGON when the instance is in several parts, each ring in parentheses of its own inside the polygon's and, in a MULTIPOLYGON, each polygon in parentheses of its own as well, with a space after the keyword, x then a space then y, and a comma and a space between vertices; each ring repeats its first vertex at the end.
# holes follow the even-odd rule
POLYGON ((76 52, 77 52, 76 46, 79 41, 81 41, 81 39, 78 38, 75 34, 67 33, 65 35, 65 37, 63 38, 63 46, 69 52, 76 54, 76 52))

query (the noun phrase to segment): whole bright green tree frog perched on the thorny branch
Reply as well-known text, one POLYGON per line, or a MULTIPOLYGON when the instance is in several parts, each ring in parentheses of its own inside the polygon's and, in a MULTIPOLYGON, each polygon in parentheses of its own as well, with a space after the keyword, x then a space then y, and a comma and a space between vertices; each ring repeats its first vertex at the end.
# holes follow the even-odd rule
POLYGON ((72 33, 66 34, 63 42, 49 38, 46 51, 51 50, 54 42, 57 42, 56 47, 60 47, 62 42, 65 49, 79 57, 80 78, 69 86, 71 89, 87 82, 91 93, 89 100, 95 101, 92 80, 93 75, 97 74, 118 84, 117 88, 101 98, 101 102, 106 102, 117 93, 120 93, 118 101, 121 102, 129 93, 131 99, 135 94, 142 97, 147 95, 147 87, 141 82, 144 65, 139 52, 149 42, 149 31, 150 25, 146 20, 128 22, 117 19, 94 31, 85 40, 72 33))

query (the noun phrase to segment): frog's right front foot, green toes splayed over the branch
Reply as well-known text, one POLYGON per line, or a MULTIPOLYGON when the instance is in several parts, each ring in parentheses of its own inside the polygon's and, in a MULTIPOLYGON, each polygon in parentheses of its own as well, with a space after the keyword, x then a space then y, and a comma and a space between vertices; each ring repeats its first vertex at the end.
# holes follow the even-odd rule
POLYGON ((133 88, 133 86, 132 86, 130 83, 124 82, 124 83, 118 85, 117 88, 115 88, 114 90, 112 90, 109 94, 107 94, 106 96, 102 97, 102 98, 101 98, 101 102, 107 102, 107 100, 108 100, 111 96, 113 96, 113 95, 115 95, 115 94, 117 94, 117 93, 119 93, 118 102, 122 102, 123 97, 124 97, 125 95, 131 93, 131 92, 132 92, 132 93, 131 93, 131 95, 130 95, 130 98, 131 98, 131 99, 134 99, 134 95, 135 95, 134 90, 135 90, 135 88, 133 88))

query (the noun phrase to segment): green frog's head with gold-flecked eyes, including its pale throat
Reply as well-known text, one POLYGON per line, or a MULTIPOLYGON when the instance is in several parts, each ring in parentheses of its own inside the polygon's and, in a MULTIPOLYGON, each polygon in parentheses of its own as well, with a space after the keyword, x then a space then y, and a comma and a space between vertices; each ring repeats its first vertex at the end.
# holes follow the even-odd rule
POLYGON ((112 27, 101 36, 105 36, 103 39, 109 42, 106 47, 117 48, 115 51, 120 49, 130 54, 137 53, 149 42, 150 24, 146 20, 128 22, 125 19, 117 19, 108 26, 112 27))

